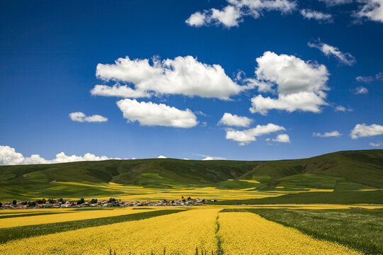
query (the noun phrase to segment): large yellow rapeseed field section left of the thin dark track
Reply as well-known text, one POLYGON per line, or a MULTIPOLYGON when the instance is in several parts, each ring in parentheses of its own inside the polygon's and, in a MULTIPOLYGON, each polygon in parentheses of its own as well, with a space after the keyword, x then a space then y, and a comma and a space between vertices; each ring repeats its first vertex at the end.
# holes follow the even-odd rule
POLYGON ((216 251, 219 209, 187 210, 146 220, 89 227, 0 245, 0 254, 195 254, 216 251))

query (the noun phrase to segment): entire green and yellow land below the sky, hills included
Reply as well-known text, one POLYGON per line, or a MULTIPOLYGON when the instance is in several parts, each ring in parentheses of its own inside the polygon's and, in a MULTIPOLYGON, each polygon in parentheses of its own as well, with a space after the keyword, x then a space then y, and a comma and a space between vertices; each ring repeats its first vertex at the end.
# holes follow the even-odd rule
POLYGON ((382 174, 382 150, 0 166, 3 208, 26 208, 0 210, 0 254, 382 254, 382 174))

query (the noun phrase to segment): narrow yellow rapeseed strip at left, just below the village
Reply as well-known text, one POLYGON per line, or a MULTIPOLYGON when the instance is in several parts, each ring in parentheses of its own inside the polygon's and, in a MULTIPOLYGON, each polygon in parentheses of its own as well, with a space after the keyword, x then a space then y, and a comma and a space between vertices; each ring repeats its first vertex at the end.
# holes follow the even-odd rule
MULTIPOLYGON (((56 209, 60 210, 60 209, 56 209)), ((9 217, 0 219, 0 229, 4 227, 20 227, 27 225, 39 225, 45 223, 66 222, 72 220, 88 220, 99 217, 111 217, 118 215, 128 215, 137 212, 148 212, 148 210, 132 210, 132 208, 118 208, 114 210, 84 210, 52 215, 35 215, 27 217, 9 217)))

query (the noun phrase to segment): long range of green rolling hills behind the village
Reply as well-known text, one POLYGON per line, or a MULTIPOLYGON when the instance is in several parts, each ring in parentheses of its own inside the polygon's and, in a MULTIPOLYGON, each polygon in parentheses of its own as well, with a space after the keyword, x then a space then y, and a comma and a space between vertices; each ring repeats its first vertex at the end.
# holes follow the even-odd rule
POLYGON ((313 188, 334 192, 376 190, 383 188, 383 150, 257 162, 135 159, 0 166, 0 200, 27 199, 33 193, 67 198, 113 195, 105 187, 84 188, 72 183, 120 183, 144 188, 247 188, 255 192, 285 193, 313 188))

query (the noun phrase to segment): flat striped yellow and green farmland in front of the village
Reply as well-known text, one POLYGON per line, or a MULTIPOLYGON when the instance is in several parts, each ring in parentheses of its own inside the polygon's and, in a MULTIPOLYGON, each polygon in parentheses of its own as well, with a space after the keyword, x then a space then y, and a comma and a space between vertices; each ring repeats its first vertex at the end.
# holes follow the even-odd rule
POLYGON ((13 211, 12 214, 20 215, 11 218, 18 224, 12 224, 9 218, 0 219, 0 254, 109 254, 110 251, 116 254, 196 254, 196 250, 199 254, 382 253, 380 219, 383 210, 379 208, 383 206, 363 207, 365 209, 350 209, 347 205, 117 208, 96 210, 96 216, 94 210, 57 209, 63 217, 57 217, 53 223, 50 215, 23 217, 27 212, 13 211), (296 219, 301 217, 280 217, 279 212, 299 213, 306 215, 306 219, 299 222, 296 219), (310 232, 310 227, 302 223, 313 215, 328 219, 319 224, 319 232, 325 234, 310 232), (370 220, 339 228, 337 217, 343 221, 356 217, 370 220), (335 234, 323 230, 333 227, 338 227, 335 234), (355 233, 355 227, 368 229, 361 233, 362 241, 347 237, 347 234, 334 240, 339 232, 355 233))

